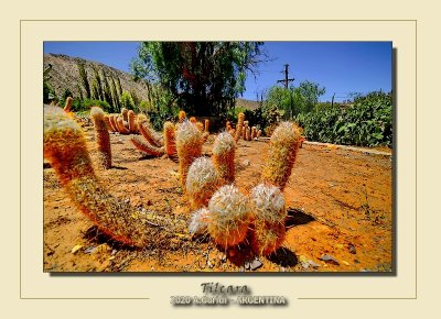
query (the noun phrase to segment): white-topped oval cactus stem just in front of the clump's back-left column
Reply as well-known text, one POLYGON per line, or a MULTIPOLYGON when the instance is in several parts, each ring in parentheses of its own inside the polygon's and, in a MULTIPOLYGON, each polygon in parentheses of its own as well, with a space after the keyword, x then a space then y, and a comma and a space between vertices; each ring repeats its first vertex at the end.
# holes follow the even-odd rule
POLYGON ((192 209, 208 205, 209 198, 220 185, 219 176, 207 157, 198 157, 190 165, 185 189, 192 209))

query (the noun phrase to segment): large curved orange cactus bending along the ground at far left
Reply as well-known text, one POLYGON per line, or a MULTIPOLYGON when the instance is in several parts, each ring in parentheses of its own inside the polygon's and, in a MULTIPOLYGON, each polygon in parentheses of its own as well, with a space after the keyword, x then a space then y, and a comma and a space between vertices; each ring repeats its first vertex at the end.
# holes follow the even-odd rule
POLYGON ((95 175, 80 127, 61 108, 44 108, 44 157, 76 207, 100 231, 130 246, 149 242, 137 211, 106 191, 95 175))

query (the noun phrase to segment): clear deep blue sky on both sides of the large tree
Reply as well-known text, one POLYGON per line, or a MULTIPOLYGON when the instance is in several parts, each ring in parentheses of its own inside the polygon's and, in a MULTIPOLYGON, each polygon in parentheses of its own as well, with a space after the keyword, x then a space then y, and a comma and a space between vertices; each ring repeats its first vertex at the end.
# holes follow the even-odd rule
MULTIPOLYGON (((137 55, 139 42, 45 42, 44 53, 66 54, 100 62, 130 72, 130 61, 137 55)), ((302 80, 326 88, 321 100, 342 101, 351 92, 391 89, 391 42, 266 42, 263 50, 270 62, 258 67, 255 79, 248 76, 245 99, 283 79, 283 65, 289 64, 289 77, 294 86, 302 80)), ((282 86, 282 84, 279 84, 282 86)))

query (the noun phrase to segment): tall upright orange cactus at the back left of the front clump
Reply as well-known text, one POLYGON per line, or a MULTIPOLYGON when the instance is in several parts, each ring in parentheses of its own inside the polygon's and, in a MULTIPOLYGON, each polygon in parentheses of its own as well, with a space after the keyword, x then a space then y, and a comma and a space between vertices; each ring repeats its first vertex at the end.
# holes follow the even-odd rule
POLYGON ((176 131, 176 151, 179 173, 182 189, 185 191, 185 180, 192 162, 202 154, 202 135, 200 130, 190 121, 184 121, 176 131))

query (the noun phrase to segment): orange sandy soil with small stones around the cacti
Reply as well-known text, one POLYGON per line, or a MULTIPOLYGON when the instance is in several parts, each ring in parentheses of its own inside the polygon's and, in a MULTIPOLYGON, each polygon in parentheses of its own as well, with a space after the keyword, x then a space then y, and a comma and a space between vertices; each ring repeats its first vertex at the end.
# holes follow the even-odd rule
MULTIPOLYGON (((94 130, 84 129, 96 163, 94 130)), ((45 168, 44 271, 251 272, 247 245, 224 252, 209 237, 189 234, 191 211, 178 179, 178 163, 143 156, 129 138, 111 133, 114 167, 96 172, 109 193, 151 221, 152 244, 135 250, 97 231, 61 188, 53 168, 45 168), (79 248, 75 253, 74 246, 79 248)), ((205 155, 211 154, 213 141, 211 135, 205 155)), ((243 191, 259 183, 267 146, 267 141, 239 142, 236 185, 243 191)), ((391 272, 390 158, 303 145, 284 190, 283 245, 259 257, 262 265, 255 272, 391 272), (322 261, 324 254, 336 262, 322 261)))

